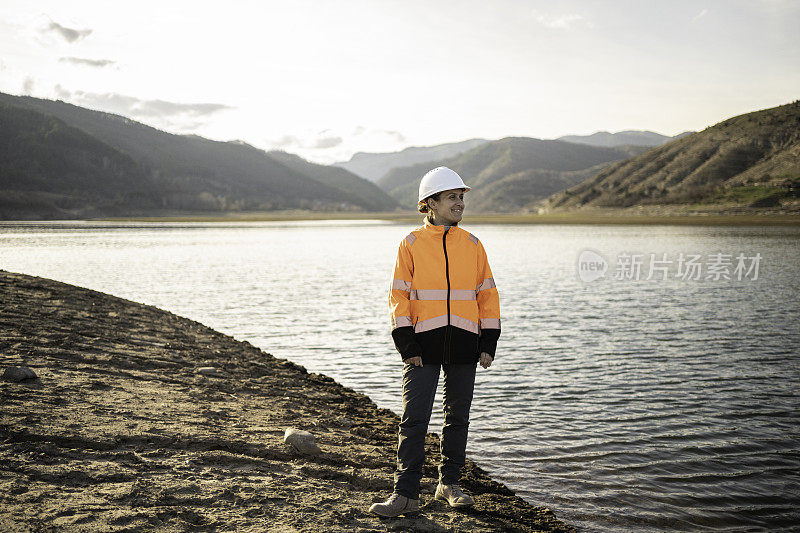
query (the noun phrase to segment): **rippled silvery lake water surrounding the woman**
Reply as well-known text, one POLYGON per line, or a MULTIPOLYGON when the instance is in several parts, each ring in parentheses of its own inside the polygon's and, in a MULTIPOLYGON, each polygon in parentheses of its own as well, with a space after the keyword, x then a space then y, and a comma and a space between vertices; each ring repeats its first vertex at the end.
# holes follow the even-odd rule
MULTIPOLYGON (((412 227, 2 224, 0 268, 168 309, 397 412, 387 288, 412 227)), ((586 531, 798 527, 800 228, 464 227, 503 316, 473 459, 586 531)))

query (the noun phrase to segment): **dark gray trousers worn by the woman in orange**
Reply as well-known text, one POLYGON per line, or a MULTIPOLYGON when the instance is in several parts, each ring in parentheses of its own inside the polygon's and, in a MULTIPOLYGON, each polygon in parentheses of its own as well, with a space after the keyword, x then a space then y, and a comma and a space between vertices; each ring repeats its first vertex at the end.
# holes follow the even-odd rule
POLYGON ((439 481, 458 483, 466 460, 469 408, 475 388, 476 364, 445 364, 403 368, 403 417, 397 443, 397 470, 394 492, 411 499, 419 498, 422 465, 425 463, 425 435, 431 420, 433 399, 439 372, 444 371, 439 481))

